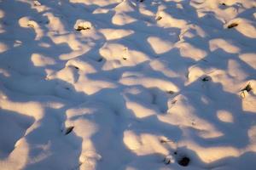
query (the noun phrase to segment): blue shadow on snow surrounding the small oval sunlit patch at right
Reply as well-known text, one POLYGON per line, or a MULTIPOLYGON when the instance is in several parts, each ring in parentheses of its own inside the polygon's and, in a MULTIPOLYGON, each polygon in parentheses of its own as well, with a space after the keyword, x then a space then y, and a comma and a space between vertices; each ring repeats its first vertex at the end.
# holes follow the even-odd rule
POLYGON ((196 119, 203 119, 222 133, 220 137, 206 139, 200 137, 200 131, 197 133, 195 131, 191 137, 195 138, 199 144, 204 147, 211 147, 215 144, 230 145, 238 149, 250 144, 247 132, 256 116, 253 112, 243 111, 240 96, 225 91, 219 82, 203 82, 201 78, 189 84, 180 94, 186 98, 186 104, 192 105, 195 109, 193 111, 195 112, 195 127, 200 126, 196 123, 196 119), (232 122, 223 122, 218 118, 218 111, 228 111, 232 116, 232 122))

